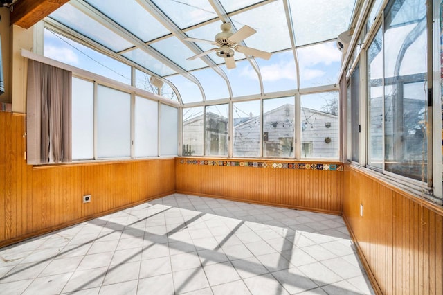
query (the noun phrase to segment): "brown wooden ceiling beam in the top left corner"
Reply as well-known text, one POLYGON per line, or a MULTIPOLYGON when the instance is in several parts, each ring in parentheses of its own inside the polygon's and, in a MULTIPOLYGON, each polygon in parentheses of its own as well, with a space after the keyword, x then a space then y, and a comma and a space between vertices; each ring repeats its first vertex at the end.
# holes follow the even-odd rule
POLYGON ((30 28, 69 0, 20 0, 11 12, 10 24, 30 28))

